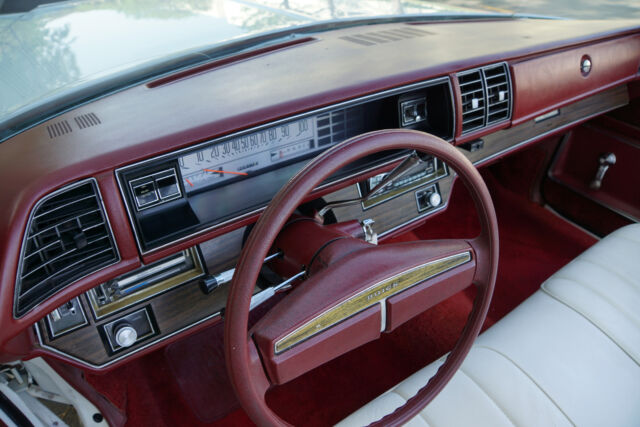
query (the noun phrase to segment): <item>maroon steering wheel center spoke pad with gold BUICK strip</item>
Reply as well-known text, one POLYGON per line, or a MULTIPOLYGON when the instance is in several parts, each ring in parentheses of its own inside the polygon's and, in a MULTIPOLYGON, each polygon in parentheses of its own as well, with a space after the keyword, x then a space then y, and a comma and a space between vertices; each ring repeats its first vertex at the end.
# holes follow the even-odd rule
MULTIPOLYGON (((345 242, 338 248, 353 248, 345 242)), ((476 266, 464 240, 366 245, 342 257, 329 252, 338 261, 299 285, 252 329, 275 383, 377 339, 454 295, 471 284, 476 266)))

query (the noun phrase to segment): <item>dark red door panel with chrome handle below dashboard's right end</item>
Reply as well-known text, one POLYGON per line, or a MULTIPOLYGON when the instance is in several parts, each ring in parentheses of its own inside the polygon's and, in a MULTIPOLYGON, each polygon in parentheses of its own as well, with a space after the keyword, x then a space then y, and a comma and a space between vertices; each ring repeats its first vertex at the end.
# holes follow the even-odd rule
POLYGON ((640 128, 602 117, 573 129, 559 147, 549 181, 544 188, 547 202, 597 234, 638 222, 640 128), (607 169, 600 188, 594 188, 600 158, 610 153, 615 164, 607 169))

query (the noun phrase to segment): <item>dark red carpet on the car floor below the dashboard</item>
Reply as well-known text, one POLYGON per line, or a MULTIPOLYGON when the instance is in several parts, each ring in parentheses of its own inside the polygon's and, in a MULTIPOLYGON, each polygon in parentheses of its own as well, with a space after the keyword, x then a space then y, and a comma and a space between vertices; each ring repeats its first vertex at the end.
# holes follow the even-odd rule
MULTIPOLYGON (((487 327, 595 240, 519 195, 526 192, 511 192, 491 174, 485 173, 485 179, 494 198, 501 240, 498 281, 487 327)), ((475 209, 460 184, 454 189, 451 206, 397 240, 474 237, 478 233, 475 209)), ((274 388, 267 396, 269 405, 294 425, 339 421, 448 352, 466 321, 473 295, 474 289, 469 288, 392 334, 274 388)), ((220 371, 207 370, 212 361, 223 363, 210 351, 215 339, 219 340, 219 331, 210 329, 177 343, 169 350, 173 356, 158 351, 105 376, 87 375, 87 379, 126 411, 128 425, 206 425, 203 421, 215 417, 216 411, 198 409, 202 402, 210 399, 215 405, 216 399, 228 397, 215 392, 216 381, 222 381, 220 371), (184 364, 175 357, 181 349, 189 352, 184 364)), ((249 424, 246 415, 236 410, 213 425, 249 424)))

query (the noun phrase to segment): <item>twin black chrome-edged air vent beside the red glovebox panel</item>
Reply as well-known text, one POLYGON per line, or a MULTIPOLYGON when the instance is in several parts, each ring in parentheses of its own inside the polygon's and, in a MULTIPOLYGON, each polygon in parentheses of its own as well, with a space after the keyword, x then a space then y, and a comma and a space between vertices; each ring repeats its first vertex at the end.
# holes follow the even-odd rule
POLYGON ((458 74, 462 133, 511 117, 511 81, 504 63, 458 74))

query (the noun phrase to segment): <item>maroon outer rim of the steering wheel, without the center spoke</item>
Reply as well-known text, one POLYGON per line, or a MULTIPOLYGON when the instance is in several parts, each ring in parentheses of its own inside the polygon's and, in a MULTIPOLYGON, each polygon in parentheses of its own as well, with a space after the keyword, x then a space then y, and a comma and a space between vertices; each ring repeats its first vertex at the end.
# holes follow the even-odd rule
POLYGON ((238 261, 228 296, 225 357, 229 378, 243 408, 258 425, 288 425, 266 404, 271 383, 261 355, 248 335, 253 288, 263 260, 295 209, 321 182, 341 167, 377 152, 414 149, 444 161, 465 183, 476 206, 481 233, 469 243, 476 263, 473 283, 478 287, 472 311, 458 342, 429 382, 393 413, 372 425, 399 425, 417 415, 445 387, 478 336, 489 308, 498 267, 498 226, 489 191, 475 167, 451 144, 423 132, 384 130, 356 136, 325 151, 278 192, 253 228, 238 261))

